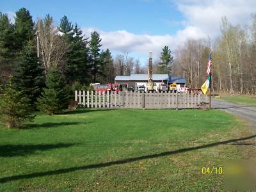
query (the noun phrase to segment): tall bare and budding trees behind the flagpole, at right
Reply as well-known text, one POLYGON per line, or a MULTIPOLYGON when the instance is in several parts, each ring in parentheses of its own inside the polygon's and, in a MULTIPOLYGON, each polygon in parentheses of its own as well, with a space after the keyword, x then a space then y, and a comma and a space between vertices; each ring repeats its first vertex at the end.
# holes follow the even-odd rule
POLYGON ((200 88, 210 51, 214 92, 256 94, 256 14, 244 27, 223 17, 220 35, 214 40, 189 39, 180 45, 175 52, 174 75, 184 76, 189 87, 200 88))

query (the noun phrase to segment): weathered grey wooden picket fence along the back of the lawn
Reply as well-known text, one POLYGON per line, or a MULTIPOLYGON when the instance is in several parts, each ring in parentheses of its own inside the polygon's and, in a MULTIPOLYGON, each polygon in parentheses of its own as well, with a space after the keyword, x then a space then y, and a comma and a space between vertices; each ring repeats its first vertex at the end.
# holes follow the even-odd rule
POLYGON ((186 109, 208 107, 209 96, 188 92, 96 92, 76 91, 84 108, 186 109))

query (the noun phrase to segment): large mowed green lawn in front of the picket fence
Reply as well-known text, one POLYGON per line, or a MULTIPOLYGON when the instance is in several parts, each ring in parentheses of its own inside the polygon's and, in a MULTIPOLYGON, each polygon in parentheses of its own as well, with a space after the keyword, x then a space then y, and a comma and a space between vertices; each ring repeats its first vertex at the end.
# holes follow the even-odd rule
POLYGON ((21 130, 0 125, 0 191, 218 190, 223 175, 202 166, 254 157, 252 145, 234 144, 255 138, 218 143, 246 136, 243 122, 218 110, 39 113, 21 130))

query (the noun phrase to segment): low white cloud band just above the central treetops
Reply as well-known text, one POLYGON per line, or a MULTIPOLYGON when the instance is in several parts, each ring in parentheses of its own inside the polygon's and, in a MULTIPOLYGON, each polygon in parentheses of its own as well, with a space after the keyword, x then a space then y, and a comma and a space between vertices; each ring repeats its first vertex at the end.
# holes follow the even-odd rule
POLYGON ((168 45, 172 49, 184 42, 187 38, 206 37, 200 29, 193 26, 177 31, 177 35, 136 35, 128 31, 102 31, 94 28, 83 28, 86 36, 97 31, 102 38, 102 48, 109 48, 111 51, 128 51, 140 52, 145 54, 148 51, 153 51, 157 54, 161 51, 164 45, 168 45))

